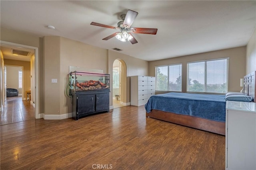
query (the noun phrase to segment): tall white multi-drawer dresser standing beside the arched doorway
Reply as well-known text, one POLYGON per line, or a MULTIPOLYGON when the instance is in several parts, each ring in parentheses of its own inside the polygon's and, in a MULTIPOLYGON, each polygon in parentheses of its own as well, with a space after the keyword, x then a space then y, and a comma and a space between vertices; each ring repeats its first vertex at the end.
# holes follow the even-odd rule
POLYGON ((155 77, 131 76, 130 80, 131 105, 141 106, 155 94, 155 77))

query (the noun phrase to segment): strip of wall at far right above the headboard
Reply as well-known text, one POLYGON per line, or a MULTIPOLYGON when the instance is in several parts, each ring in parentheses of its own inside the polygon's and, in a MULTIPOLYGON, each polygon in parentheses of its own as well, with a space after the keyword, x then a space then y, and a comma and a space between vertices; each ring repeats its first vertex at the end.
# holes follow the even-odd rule
POLYGON ((256 71, 256 29, 246 45, 246 74, 256 71))

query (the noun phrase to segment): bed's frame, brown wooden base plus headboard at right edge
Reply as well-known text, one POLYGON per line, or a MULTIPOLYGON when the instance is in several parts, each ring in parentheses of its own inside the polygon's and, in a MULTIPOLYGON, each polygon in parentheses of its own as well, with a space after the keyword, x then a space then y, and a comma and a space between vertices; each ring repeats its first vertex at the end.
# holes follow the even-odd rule
MULTIPOLYGON (((256 71, 244 76, 244 93, 255 97, 255 79, 256 71)), ((255 102, 255 99, 254 99, 255 102)), ((200 130, 206 130, 221 135, 225 135, 225 122, 210 121, 199 117, 193 117, 189 115, 179 115, 176 113, 170 113, 165 111, 154 110, 150 113, 146 113, 146 117, 183 125, 186 127, 197 128, 200 130)))

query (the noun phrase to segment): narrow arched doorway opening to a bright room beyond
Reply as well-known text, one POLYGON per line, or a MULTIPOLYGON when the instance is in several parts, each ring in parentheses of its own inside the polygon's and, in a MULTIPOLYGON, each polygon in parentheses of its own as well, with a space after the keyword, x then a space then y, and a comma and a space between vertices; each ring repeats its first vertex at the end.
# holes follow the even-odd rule
POLYGON ((124 93, 124 79, 126 79, 126 65, 124 61, 116 59, 113 62, 113 109, 123 107, 124 99, 126 98, 124 93))

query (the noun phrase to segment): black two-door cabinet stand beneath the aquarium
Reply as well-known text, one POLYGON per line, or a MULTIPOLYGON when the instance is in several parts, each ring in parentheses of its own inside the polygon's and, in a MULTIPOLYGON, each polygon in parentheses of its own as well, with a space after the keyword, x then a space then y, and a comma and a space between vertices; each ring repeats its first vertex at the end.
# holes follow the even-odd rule
POLYGON ((72 95, 73 119, 100 112, 109 112, 109 92, 72 95))

